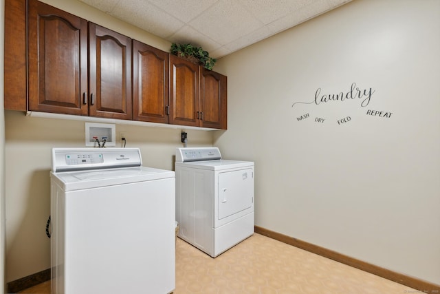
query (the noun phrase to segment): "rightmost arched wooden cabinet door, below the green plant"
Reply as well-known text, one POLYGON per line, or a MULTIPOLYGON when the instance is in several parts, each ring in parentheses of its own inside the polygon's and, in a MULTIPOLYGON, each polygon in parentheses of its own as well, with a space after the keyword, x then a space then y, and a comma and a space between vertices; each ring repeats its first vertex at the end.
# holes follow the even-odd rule
POLYGON ((201 67, 200 126, 216 129, 227 127, 228 79, 226 76, 201 67))

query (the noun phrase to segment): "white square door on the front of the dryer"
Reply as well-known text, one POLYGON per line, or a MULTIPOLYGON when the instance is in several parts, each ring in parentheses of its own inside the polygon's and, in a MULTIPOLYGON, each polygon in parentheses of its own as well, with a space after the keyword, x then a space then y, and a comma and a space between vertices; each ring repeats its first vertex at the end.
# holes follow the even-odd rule
POLYGON ((219 173, 219 220, 249 209, 254 204, 254 171, 252 168, 219 173))

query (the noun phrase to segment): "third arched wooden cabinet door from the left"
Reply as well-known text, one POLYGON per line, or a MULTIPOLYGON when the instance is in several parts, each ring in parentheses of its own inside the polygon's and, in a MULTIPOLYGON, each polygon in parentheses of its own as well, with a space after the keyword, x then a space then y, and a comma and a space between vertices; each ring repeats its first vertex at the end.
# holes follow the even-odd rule
POLYGON ((133 118, 168 123, 168 52, 133 40, 133 118))

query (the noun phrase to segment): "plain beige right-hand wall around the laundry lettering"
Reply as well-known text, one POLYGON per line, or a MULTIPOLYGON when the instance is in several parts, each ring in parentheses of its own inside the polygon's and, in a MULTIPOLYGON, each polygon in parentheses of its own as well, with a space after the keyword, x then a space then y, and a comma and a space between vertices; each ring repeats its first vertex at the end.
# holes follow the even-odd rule
POLYGON ((228 131, 214 145, 255 161, 256 225, 440 284, 439 12, 357 0, 221 59, 228 131), (369 105, 292 107, 352 83, 369 105))

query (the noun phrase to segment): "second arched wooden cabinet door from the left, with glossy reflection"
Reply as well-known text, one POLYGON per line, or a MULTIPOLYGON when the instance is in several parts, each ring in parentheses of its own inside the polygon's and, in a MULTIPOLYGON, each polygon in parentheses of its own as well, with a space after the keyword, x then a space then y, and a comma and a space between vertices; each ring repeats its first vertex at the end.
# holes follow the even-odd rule
POLYGON ((133 117, 131 39, 89 23, 89 115, 133 117))

